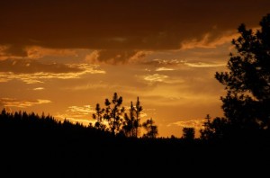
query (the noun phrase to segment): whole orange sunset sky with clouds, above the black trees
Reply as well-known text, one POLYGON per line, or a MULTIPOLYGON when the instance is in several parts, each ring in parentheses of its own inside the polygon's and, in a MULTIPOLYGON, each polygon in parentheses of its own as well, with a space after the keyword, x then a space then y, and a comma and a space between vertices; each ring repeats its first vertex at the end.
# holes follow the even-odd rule
POLYGON ((238 26, 259 28, 269 0, 2 0, 0 107, 88 125, 113 93, 158 137, 196 136, 222 117, 226 70, 238 26))

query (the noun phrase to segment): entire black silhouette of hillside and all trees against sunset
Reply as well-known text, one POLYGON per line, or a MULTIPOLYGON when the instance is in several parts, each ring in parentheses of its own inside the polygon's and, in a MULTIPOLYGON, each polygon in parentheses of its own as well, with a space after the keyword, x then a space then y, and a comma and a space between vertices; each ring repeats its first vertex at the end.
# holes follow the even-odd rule
POLYGON ((269 168, 270 14, 248 30, 240 24, 237 52, 228 71, 215 78, 224 85, 224 117, 206 114, 200 138, 184 128, 182 138, 158 137, 150 118, 140 123, 139 97, 130 108, 113 93, 97 103, 94 124, 26 111, 0 114, 1 177, 261 177, 269 168))

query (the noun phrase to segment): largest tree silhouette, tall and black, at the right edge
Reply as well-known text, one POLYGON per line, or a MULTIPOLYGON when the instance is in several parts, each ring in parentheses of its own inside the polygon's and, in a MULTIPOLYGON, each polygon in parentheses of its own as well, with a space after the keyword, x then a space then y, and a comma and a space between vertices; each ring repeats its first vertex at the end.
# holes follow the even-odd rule
POLYGON ((239 25, 229 71, 215 74, 227 91, 220 97, 225 118, 205 122, 201 138, 247 138, 270 129, 270 13, 259 24, 257 31, 239 25))

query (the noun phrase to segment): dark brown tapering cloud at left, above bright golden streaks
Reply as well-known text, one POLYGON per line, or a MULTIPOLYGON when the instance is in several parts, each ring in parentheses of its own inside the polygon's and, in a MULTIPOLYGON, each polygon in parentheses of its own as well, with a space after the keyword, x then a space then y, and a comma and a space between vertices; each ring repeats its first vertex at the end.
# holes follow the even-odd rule
POLYGON ((13 72, 14 74, 33 73, 76 73, 84 69, 79 67, 69 67, 64 64, 43 64, 31 59, 6 59, 0 60, 0 72, 13 72))

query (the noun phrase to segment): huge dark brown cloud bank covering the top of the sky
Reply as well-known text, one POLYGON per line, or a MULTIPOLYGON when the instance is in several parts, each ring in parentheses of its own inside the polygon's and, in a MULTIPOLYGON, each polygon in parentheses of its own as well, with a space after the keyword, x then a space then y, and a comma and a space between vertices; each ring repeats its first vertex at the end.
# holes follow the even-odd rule
POLYGON ((269 0, 3 0, 0 44, 21 56, 32 45, 179 49, 182 41, 202 40, 206 33, 211 42, 241 22, 256 26, 269 6, 269 0))

